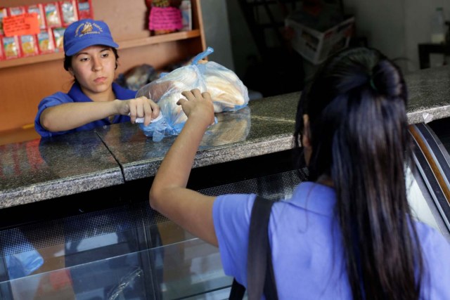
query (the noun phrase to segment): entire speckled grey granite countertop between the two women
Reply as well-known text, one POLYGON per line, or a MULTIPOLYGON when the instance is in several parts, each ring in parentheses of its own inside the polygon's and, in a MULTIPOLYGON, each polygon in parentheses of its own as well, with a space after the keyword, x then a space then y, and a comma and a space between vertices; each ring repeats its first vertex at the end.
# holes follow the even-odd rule
MULTIPOLYGON (((411 124, 450 116, 450 67, 406 75, 411 124)), ((292 147, 300 91, 250 101, 217 114, 194 167, 230 162, 292 147)), ((160 142, 136 124, 0 146, 0 208, 13 207, 154 176, 174 136, 160 142)))

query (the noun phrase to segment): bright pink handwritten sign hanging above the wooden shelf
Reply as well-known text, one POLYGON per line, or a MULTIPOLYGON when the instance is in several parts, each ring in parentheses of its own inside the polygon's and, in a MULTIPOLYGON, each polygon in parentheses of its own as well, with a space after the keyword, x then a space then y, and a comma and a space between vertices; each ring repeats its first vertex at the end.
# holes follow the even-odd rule
POLYGON ((150 30, 181 30, 181 11, 176 7, 152 7, 148 27, 150 30))

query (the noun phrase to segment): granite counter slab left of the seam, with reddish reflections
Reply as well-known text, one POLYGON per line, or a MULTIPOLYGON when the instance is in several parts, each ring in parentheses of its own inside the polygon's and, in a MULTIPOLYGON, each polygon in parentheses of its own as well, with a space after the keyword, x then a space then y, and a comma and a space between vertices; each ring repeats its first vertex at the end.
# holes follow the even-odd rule
POLYGON ((0 208, 124 183, 94 131, 0 146, 0 208))

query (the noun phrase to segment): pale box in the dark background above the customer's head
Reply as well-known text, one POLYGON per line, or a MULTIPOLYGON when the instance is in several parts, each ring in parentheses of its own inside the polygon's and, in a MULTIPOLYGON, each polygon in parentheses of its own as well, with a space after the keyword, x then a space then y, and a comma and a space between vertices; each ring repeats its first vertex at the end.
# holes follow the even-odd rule
POLYGON ((348 18, 325 32, 319 32, 289 18, 285 25, 294 30, 291 44, 295 51, 314 65, 323 63, 328 56, 349 46, 354 28, 354 17, 348 18))

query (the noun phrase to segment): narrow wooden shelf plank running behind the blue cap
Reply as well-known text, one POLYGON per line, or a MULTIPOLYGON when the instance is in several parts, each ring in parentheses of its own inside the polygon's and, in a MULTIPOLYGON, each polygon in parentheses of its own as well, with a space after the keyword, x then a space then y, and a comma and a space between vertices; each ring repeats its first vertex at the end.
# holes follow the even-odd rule
MULTIPOLYGON (((151 44, 165 43, 167 41, 179 41, 181 39, 193 39, 200 37, 200 30, 191 30, 186 32, 174 32, 169 34, 160 34, 152 37, 144 37, 141 39, 132 39, 129 41, 117 41, 120 49, 134 48, 139 46, 147 46, 151 44)), ((49 53, 39 56, 29 56, 27 58, 15 58, 11 60, 0 61, 0 69, 6 67, 17 67, 19 65, 30 65, 32 63, 43 63, 52 60, 62 60, 64 53, 49 53)))

